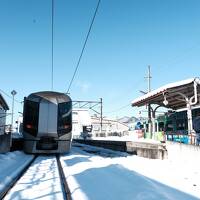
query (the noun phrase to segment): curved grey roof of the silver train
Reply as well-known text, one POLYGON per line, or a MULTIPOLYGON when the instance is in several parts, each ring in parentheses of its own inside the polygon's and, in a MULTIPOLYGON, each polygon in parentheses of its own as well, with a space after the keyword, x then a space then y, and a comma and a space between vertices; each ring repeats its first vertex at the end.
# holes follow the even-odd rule
POLYGON ((40 91, 40 92, 34 92, 31 93, 28 97, 28 100, 34 100, 36 102, 41 101, 41 99, 46 99, 52 103, 62 103, 62 102, 68 102, 71 101, 71 98, 61 92, 55 92, 55 91, 40 91))

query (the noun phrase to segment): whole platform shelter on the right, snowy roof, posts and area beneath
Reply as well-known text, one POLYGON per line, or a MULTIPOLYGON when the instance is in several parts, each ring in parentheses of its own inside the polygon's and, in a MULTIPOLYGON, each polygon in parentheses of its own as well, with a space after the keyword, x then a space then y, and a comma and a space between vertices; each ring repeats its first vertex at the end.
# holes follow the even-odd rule
MULTIPOLYGON (((200 133, 197 129, 195 130, 194 121, 197 121, 198 117, 200 117, 199 78, 191 78, 164 85, 134 99, 132 106, 146 106, 149 108, 145 132, 149 134, 150 138, 160 140, 162 135, 157 137, 157 134, 163 134, 165 137, 167 133, 167 136, 170 136, 172 140, 176 138, 180 142, 197 143, 200 133), (170 110, 163 116, 165 119, 156 117, 156 112, 160 107, 170 110), (181 138, 182 140, 180 140, 181 138)), ((200 120, 197 123, 200 126, 200 120)))

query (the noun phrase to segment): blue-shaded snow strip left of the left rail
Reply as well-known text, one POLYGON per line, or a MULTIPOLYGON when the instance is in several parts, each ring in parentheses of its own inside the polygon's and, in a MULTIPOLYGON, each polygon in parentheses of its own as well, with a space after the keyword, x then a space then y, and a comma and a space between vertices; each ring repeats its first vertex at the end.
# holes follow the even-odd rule
POLYGON ((33 159, 21 151, 0 154, 0 192, 33 159))

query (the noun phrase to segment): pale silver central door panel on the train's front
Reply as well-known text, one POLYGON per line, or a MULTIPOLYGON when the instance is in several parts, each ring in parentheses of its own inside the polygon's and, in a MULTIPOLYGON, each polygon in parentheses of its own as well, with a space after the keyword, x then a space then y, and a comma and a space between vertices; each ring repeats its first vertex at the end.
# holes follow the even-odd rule
POLYGON ((38 136, 57 136, 57 105, 45 100, 40 103, 38 136))

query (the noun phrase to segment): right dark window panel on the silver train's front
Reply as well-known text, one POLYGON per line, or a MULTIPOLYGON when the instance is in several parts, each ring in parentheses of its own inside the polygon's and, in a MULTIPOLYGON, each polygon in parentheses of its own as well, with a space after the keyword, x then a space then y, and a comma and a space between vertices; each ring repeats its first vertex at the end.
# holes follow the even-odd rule
POLYGON ((61 136, 72 130, 72 102, 58 104, 58 135, 61 136))

